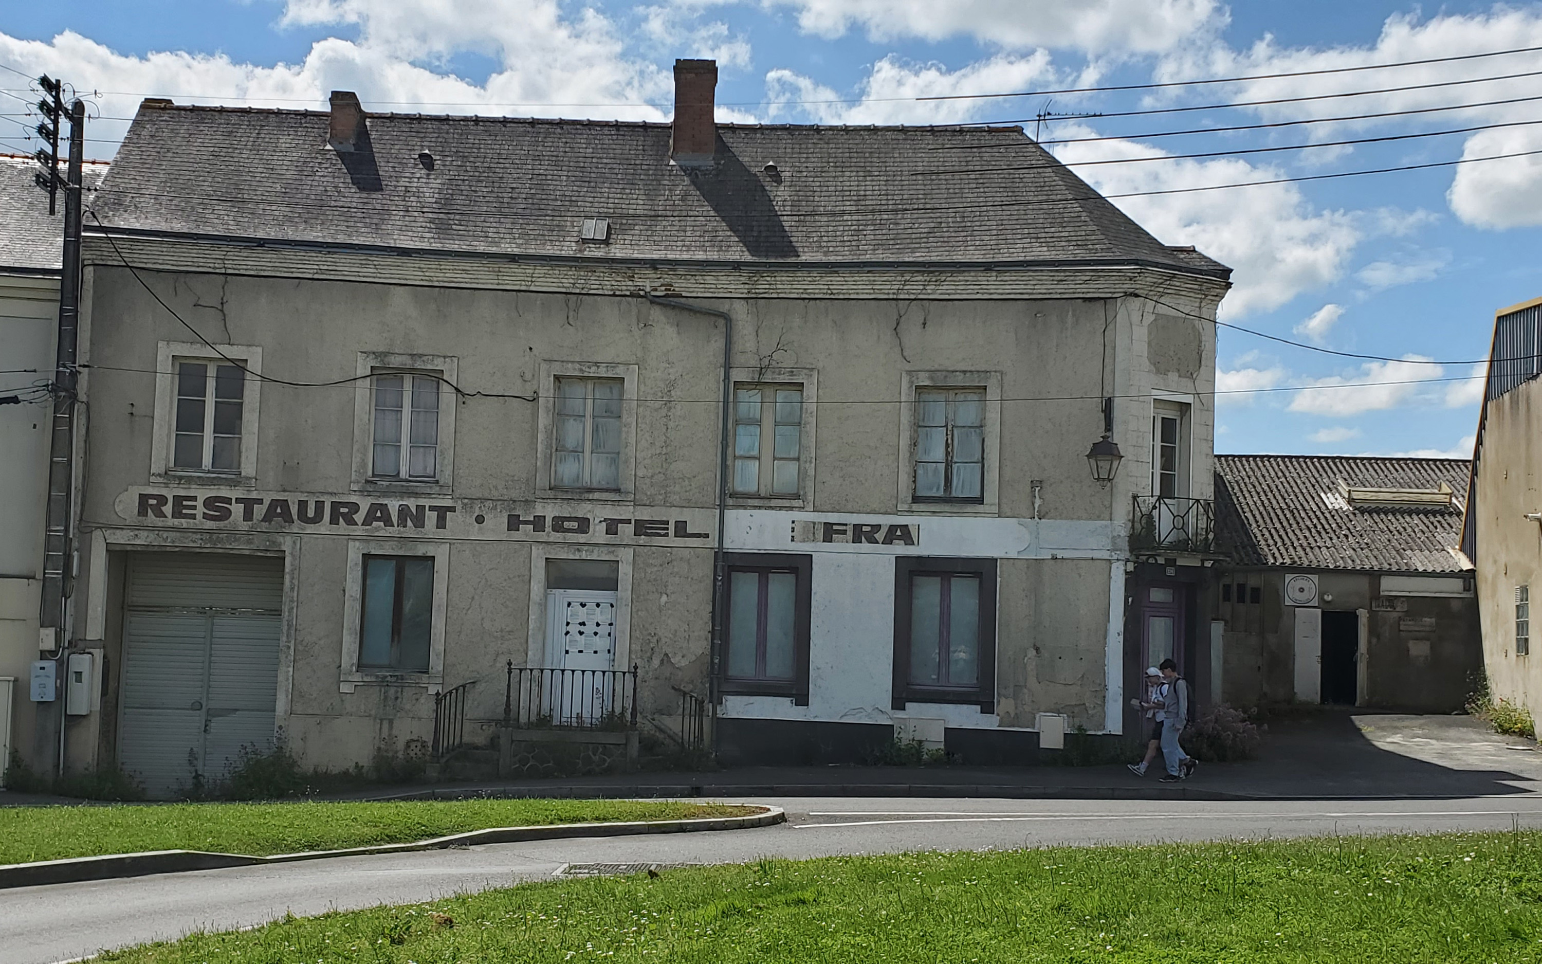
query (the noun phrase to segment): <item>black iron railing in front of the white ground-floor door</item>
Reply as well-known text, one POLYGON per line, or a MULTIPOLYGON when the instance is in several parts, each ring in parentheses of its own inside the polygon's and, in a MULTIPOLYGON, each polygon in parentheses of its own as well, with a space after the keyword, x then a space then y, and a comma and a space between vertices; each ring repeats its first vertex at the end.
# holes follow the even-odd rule
POLYGON ((543 669, 509 660, 503 725, 521 728, 637 730, 637 666, 543 669))

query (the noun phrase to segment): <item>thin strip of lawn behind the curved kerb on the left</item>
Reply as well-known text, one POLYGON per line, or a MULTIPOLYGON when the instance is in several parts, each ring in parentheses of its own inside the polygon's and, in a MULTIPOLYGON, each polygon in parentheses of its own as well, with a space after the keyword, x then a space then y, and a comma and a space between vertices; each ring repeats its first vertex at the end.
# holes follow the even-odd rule
POLYGON ((267 856, 535 824, 669 821, 749 813, 663 801, 389 801, 373 804, 167 804, 0 808, 0 864, 139 850, 267 856))

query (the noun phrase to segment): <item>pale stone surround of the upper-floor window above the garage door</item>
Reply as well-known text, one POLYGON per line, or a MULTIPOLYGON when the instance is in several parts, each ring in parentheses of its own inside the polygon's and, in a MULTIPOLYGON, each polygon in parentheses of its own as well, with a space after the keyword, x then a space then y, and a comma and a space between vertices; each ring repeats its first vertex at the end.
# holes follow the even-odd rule
POLYGON ((261 406, 262 349, 258 345, 219 345, 219 353, 200 341, 162 341, 156 344, 156 412, 151 432, 150 477, 163 483, 207 486, 217 480, 224 486, 258 484, 258 410, 261 406), (224 355, 225 358, 221 358, 224 355), (214 472, 210 469, 177 469, 171 464, 176 440, 177 362, 237 362, 248 375, 241 390, 241 469, 214 472))

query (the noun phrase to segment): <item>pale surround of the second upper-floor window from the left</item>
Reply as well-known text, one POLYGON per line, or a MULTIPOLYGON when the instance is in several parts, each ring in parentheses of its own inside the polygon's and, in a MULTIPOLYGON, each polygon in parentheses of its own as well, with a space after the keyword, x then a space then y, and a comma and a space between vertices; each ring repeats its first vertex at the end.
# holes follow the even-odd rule
MULTIPOLYGON (((455 412, 460 409, 455 390, 444 381, 439 383, 436 478, 376 477, 373 475, 375 375, 433 375, 455 383, 460 378, 460 359, 452 355, 359 352, 356 375, 358 381, 353 383, 353 492, 449 495, 455 480, 455 412)), ((410 392, 410 386, 407 390, 410 392)), ((404 418, 402 423, 406 424, 406 421, 404 418)))

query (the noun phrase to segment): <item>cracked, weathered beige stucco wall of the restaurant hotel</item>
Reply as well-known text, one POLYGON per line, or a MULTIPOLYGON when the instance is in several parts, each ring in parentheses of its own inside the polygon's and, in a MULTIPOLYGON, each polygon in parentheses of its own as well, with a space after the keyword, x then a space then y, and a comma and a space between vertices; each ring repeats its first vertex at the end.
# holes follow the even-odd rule
MULTIPOLYGON (((97 569, 89 555, 100 551, 91 546, 93 531, 139 529, 151 544, 159 538, 154 526, 125 518, 119 500, 151 481, 157 342, 194 341, 128 271, 99 265, 89 275, 88 352, 97 367, 86 381, 93 423, 82 509, 85 583, 97 569)), ((352 378, 359 352, 453 356, 464 390, 506 395, 538 392, 549 362, 637 366, 632 504, 695 511, 715 504, 722 333, 714 318, 631 296, 142 276, 199 335, 216 344, 261 345, 262 372, 287 381, 352 378)), ((1214 302, 1173 293, 1163 299, 1197 313, 1214 308, 1214 302)), ((1038 511, 1047 520, 1123 526, 1130 495, 1149 492, 1153 390, 1194 393, 1192 494, 1210 495, 1214 327, 1163 310, 1170 316, 1152 336, 1150 302, 745 298, 697 304, 732 315, 736 369, 817 370, 808 511, 897 511, 908 472, 899 441, 904 378, 934 370, 999 375, 1005 401, 996 515, 1002 518, 1038 511), (1158 370, 1146 364, 1147 350, 1160 356, 1158 370), (1103 393, 1121 396, 1115 438, 1126 463, 1110 487, 1092 484, 1084 458, 1103 430, 1103 393), (1042 480, 1038 507, 1030 480, 1042 480)), ((348 497, 358 390, 265 383, 254 489, 348 497)), ((538 409, 515 398, 460 399, 447 497, 535 500, 538 450, 549 444, 538 438, 538 409)), ((575 514, 628 514, 614 503, 571 504, 575 514)), ((187 538, 183 529, 168 543, 187 538)), ((221 538, 210 535, 210 544, 221 538)), ((316 765, 399 751, 407 739, 426 737, 432 719, 432 697, 423 686, 339 691, 345 541, 336 534, 290 540, 298 554, 291 560, 298 597, 293 679, 281 680, 281 706, 282 689, 291 686, 281 725, 302 759, 316 765)), ((450 549, 444 683, 480 680, 473 717, 501 713, 504 660, 526 662, 534 551, 532 543, 509 540, 455 541, 450 549)), ((1109 568, 1106 560, 1004 560, 998 614, 1002 725, 1032 725, 1036 711, 1067 711, 1101 728, 1109 568)), ((709 594, 709 541, 635 548, 628 660, 641 669, 645 713, 678 708, 671 683, 705 689, 709 594)), ((88 585, 77 595, 116 605, 105 602, 105 591, 93 597, 88 585)), ((99 623, 102 632, 113 632, 111 619, 99 623)))

